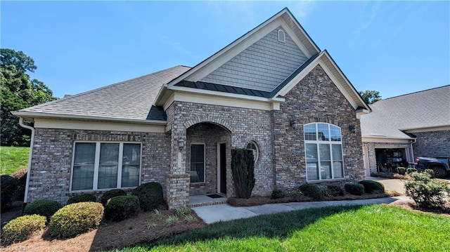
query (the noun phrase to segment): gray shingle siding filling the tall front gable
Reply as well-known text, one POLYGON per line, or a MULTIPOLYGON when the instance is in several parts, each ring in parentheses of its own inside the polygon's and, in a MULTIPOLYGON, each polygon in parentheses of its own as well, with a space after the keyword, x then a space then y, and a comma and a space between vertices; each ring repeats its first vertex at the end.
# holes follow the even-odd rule
POLYGON ((272 91, 295 69, 307 61, 293 39, 285 32, 278 41, 278 27, 243 52, 214 70, 201 81, 272 91))

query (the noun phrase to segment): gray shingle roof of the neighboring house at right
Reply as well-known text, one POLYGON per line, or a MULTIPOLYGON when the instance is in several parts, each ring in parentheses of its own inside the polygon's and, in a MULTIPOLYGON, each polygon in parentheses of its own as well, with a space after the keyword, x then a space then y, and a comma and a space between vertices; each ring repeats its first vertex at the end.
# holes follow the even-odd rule
POLYGON ((450 126, 450 85, 379 100, 361 116, 363 136, 409 138, 409 129, 450 126))

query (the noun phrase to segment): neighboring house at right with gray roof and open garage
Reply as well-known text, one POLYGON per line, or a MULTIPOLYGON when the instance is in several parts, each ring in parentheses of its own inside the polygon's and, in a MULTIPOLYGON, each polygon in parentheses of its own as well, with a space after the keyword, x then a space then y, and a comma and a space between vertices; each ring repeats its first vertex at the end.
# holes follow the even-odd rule
POLYGON ((361 117, 366 175, 413 163, 415 157, 450 156, 450 86, 371 105, 361 117))

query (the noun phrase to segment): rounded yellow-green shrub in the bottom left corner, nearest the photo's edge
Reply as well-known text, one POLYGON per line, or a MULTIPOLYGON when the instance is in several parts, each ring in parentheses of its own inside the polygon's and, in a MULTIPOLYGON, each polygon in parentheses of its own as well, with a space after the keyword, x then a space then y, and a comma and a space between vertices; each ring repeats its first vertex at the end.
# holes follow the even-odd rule
POLYGON ((8 246, 15 242, 25 241, 33 232, 44 230, 46 218, 41 215, 24 215, 7 223, 1 232, 1 245, 8 246))

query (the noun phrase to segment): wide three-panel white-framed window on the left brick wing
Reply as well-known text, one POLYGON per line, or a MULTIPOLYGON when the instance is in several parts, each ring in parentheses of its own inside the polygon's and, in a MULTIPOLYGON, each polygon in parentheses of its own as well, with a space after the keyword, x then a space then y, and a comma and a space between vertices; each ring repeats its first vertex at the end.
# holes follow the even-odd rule
POLYGON ((75 142, 71 191, 136 187, 141 177, 141 144, 75 142))

